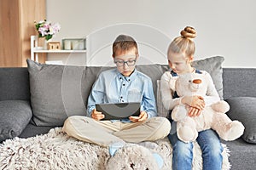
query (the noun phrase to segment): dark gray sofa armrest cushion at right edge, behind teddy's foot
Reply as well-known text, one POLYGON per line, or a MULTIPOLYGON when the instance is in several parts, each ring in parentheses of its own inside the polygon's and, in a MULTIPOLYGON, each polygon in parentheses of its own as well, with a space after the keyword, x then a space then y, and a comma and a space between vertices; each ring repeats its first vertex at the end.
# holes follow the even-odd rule
POLYGON ((256 144, 256 98, 235 97, 226 101, 230 104, 227 115, 232 120, 241 121, 245 127, 241 138, 248 143, 256 144))

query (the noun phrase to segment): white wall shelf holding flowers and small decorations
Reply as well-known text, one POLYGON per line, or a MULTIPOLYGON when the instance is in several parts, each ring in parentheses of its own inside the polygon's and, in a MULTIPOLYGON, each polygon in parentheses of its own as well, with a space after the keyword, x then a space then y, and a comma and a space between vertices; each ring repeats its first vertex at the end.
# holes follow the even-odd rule
MULTIPOLYGON (((42 48, 42 47, 41 47, 42 48)), ((38 62, 38 54, 68 54, 68 53, 86 53, 86 50, 47 50, 38 48, 38 36, 31 36, 31 59, 38 62)))

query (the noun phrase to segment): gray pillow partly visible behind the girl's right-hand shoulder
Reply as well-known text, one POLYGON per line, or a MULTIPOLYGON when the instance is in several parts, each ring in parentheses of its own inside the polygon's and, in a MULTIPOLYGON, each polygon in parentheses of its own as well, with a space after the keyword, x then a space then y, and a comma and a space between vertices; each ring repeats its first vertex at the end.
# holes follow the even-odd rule
POLYGON ((223 62, 224 57, 215 56, 206 59, 195 60, 192 63, 192 66, 194 66, 196 69, 201 71, 207 71, 211 75, 212 81, 215 85, 215 88, 217 89, 220 99, 223 99, 223 62))

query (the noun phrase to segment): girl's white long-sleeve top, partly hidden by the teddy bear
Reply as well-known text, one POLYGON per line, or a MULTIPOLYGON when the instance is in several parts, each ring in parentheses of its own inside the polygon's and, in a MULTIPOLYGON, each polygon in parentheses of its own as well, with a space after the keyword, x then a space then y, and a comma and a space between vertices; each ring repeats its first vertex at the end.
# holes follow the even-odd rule
MULTIPOLYGON (((211 105, 220 100, 218 92, 212 81, 212 77, 207 71, 201 71, 208 79, 207 94, 204 97, 206 105, 211 105)), ((162 97, 162 102, 166 110, 171 111, 176 105, 179 105, 180 99, 173 98, 175 93, 175 83, 177 81, 177 76, 172 76, 171 71, 166 71, 160 79, 160 93, 162 97)))

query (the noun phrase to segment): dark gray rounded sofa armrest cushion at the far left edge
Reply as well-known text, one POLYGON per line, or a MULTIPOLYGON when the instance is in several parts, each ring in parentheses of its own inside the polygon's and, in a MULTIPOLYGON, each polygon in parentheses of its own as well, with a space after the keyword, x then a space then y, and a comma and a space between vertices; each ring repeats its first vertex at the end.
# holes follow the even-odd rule
POLYGON ((32 118, 32 109, 26 100, 0 101, 0 142, 20 135, 32 118))

